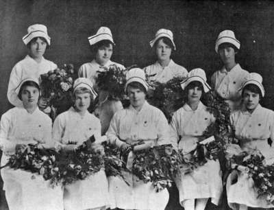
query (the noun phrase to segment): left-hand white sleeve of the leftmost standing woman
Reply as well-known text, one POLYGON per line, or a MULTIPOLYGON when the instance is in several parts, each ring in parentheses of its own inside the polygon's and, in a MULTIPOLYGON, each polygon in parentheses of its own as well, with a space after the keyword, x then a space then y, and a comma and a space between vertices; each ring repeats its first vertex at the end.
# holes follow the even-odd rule
POLYGON ((18 99, 17 93, 15 92, 16 87, 20 84, 22 78, 22 69, 20 65, 15 65, 10 73, 10 81, 8 84, 8 101, 10 104, 23 107, 23 103, 18 99))

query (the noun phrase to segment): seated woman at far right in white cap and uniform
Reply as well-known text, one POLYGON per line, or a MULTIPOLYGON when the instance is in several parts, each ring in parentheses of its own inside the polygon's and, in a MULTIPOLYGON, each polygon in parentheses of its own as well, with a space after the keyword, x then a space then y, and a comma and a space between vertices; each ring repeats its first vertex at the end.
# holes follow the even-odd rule
MULTIPOLYGON (((259 150, 265 157, 266 164, 274 161, 273 146, 267 139, 274 140, 274 112, 260 105, 264 97, 262 77, 258 73, 249 73, 242 85, 241 110, 232 113, 230 119, 240 147, 249 154, 259 150)), ((227 178, 227 202, 232 209, 273 208, 264 197, 258 197, 253 179, 247 173, 234 170, 227 178), (233 183, 233 180, 236 180, 233 183)))

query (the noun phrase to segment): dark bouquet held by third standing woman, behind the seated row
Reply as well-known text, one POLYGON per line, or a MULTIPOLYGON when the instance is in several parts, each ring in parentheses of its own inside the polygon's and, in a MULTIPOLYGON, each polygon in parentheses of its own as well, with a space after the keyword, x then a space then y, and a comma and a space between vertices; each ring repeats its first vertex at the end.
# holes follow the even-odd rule
POLYGON ((169 121, 171 121, 173 113, 186 102, 186 95, 180 85, 182 80, 184 78, 173 78, 164 84, 160 82, 149 84, 153 91, 148 93, 147 101, 160 108, 169 121))

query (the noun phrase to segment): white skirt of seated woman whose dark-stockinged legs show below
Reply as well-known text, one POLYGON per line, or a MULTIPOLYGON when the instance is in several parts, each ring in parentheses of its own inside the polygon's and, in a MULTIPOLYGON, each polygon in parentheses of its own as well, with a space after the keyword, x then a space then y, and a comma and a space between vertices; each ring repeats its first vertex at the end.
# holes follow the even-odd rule
POLYGON ((211 198, 214 205, 219 204, 223 193, 223 183, 219 161, 208 160, 205 165, 195 169, 190 174, 174 178, 179 190, 179 202, 183 206, 184 200, 195 198, 211 198))

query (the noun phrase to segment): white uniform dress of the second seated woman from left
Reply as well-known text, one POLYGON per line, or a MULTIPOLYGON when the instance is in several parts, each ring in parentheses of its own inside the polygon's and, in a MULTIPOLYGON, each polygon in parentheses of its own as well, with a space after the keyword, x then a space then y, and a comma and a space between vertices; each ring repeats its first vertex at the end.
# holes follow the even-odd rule
MULTIPOLYGON (((101 137, 101 124, 99 119, 88 111, 81 116, 71 107, 58 115, 53 123, 53 139, 62 144, 74 141, 81 145, 92 135, 95 135, 95 139, 101 137)), ((93 209, 106 205, 108 180, 104 170, 64 187, 65 210, 93 209)))

